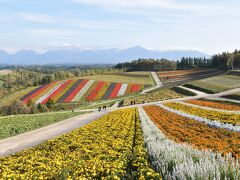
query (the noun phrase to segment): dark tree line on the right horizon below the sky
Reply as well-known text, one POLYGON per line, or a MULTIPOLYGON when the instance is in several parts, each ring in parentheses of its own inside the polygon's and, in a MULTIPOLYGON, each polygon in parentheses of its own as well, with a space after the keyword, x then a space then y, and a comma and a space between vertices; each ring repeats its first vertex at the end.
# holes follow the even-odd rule
POLYGON ((210 58, 183 57, 177 61, 168 59, 138 59, 131 62, 119 63, 115 68, 125 68, 128 71, 161 71, 192 68, 240 69, 240 51, 235 50, 232 53, 223 52, 213 55, 210 58))

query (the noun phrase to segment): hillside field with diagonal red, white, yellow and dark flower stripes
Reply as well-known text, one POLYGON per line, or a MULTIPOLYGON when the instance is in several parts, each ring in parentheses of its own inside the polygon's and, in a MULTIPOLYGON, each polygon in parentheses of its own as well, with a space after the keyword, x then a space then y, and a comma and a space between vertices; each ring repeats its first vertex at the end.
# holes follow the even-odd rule
POLYGON ((21 100, 28 103, 31 99, 36 104, 46 104, 49 99, 56 103, 70 103, 80 100, 94 101, 112 99, 141 91, 144 85, 110 83, 88 79, 70 79, 53 82, 35 88, 21 100))

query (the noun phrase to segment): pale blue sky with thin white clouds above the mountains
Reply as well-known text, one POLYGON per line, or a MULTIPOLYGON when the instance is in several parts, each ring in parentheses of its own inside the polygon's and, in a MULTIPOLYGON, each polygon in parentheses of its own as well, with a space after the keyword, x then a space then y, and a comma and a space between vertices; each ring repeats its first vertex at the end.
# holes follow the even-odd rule
POLYGON ((240 48, 237 0, 0 0, 0 49, 240 48))

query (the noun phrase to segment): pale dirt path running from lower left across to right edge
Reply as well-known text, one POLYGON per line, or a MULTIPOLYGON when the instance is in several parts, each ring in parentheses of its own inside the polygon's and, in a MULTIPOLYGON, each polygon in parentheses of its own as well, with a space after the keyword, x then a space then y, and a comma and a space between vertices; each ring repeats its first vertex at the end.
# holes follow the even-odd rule
MULTIPOLYGON (((159 85, 160 86, 160 85, 159 85)), ((187 88, 188 90, 191 90, 187 88)), ((217 93, 217 94, 205 94, 205 93, 197 93, 196 96, 193 97, 183 97, 178 99, 170 99, 170 100, 164 100, 164 101, 158 101, 158 102, 150 102, 150 103, 144 103, 144 104, 136 104, 132 106, 125 106, 125 107, 112 107, 108 108, 105 111, 102 112, 92 112, 88 114, 79 115, 55 124, 52 124, 50 126, 46 126, 40 129, 36 129, 24 134, 20 134, 18 136, 6 138, 3 140, 0 140, 0 156, 6 156, 10 154, 14 154, 15 152, 21 151, 26 148, 33 147, 37 144, 40 144, 44 141, 47 141, 48 139, 60 136, 62 134, 68 133, 74 129, 77 129, 79 127, 82 127, 100 117, 103 115, 116 110, 116 109, 124 109, 129 107, 138 107, 138 106, 145 106, 145 105, 156 105, 158 103, 162 102, 171 102, 171 101, 185 101, 185 100, 193 100, 193 99, 199 99, 199 98, 211 98, 211 97, 220 97, 222 95, 229 95, 234 92, 239 92, 240 88, 228 90, 225 92, 217 93)), ((196 93, 196 91, 194 90, 196 93)), ((87 111, 87 110, 83 110, 87 111)))

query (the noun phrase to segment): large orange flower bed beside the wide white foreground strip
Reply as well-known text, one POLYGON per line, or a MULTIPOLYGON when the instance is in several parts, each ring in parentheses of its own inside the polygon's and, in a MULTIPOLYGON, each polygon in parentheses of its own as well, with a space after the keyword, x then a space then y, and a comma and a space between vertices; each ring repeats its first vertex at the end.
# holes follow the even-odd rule
POLYGON ((193 119, 179 116, 158 106, 146 106, 145 111, 170 139, 188 143, 198 149, 212 149, 224 155, 240 157, 240 133, 211 128, 193 119))

